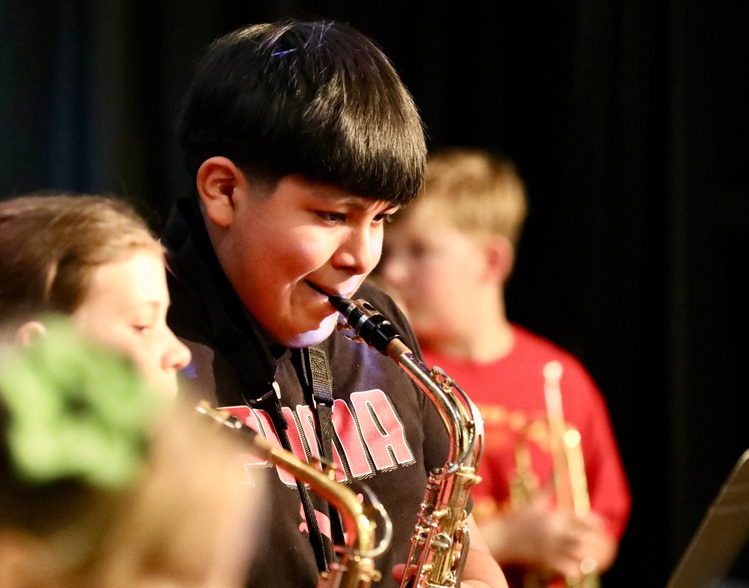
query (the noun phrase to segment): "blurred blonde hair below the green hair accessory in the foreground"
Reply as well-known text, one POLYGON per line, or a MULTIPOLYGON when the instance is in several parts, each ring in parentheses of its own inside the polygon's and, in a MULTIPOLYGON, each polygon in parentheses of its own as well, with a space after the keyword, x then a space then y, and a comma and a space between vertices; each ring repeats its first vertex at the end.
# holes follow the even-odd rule
MULTIPOLYGON (((3 513, 0 539, 25 532, 40 549, 20 583, 9 585, 131 588, 149 575, 199 585, 220 555, 216 549, 230 547, 221 522, 227 519, 248 526, 240 556, 249 559, 260 524, 252 503, 262 498, 262 487, 241 483, 239 439, 201 419, 181 400, 167 410, 152 428, 146 469, 129 487, 64 480, 16 488, 15 511, 3 513)), ((247 563, 235 565, 244 573, 247 563)))

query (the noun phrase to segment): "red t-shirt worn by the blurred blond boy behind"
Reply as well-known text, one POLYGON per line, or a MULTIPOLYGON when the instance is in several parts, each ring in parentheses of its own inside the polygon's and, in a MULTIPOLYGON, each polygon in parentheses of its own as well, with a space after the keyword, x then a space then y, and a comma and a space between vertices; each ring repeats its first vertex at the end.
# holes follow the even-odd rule
POLYGON ((474 487, 474 515, 508 507, 509 480, 516 471, 516 447, 522 436, 538 483, 553 484, 545 400, 544 366, 562 365, 559 389, 564 420, 581 434, 591 509, 621 538, 631 495, 603 396, 571 354, 521 327, 513 326, 511 351, 490 363, 456 360, 423 349, 426 364, 442 368, 478 406, 484 419, 481 484, 474 487))

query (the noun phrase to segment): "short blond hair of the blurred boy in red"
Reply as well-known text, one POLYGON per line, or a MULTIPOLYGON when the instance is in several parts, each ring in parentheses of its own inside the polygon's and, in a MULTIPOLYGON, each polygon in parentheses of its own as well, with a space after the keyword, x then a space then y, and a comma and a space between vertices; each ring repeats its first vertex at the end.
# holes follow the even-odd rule
POLYGON ((431 154, 420 201, 466 234, 501 235, 514 247, 528 214, 515 163, 481 149, 452 147, 431 154))

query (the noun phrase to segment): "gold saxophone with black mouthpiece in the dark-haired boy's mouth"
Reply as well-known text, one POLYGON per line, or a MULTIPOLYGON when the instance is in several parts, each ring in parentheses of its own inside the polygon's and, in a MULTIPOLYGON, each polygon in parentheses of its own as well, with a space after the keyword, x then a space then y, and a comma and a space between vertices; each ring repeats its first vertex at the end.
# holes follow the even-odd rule
POLYGON ((429 473, 402 588, 460 586, 470 537, 466 507, 483 450, 483 420, 468 396, 439 368, 428 369, 400 339, 392 323, 365 300, 329 296, 356 341, 390 357, 436 406, 450 438, 442 468, 429 473))

